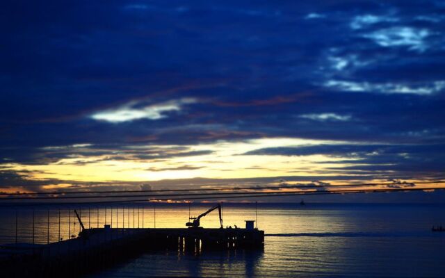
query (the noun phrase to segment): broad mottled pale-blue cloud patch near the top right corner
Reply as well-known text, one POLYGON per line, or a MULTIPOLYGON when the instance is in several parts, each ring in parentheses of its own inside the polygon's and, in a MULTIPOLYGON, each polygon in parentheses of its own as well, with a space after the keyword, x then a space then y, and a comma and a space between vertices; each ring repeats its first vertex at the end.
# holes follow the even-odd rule
POLYGON ((410 50, 425 51, 425 39, 430 35, 427 29, 412 27, 392 27, 364 35, 382 47, 409 47, 410 50))

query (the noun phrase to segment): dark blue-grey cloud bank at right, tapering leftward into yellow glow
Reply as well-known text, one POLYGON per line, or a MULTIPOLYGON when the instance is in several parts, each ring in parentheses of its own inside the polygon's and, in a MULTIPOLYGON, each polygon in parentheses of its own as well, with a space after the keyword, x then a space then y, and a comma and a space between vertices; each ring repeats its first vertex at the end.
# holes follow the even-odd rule
POLYGON ((321 163, 357 164, 332 167, 332 170, 357 174, 361 171, 396 173, 443 173, 445 170, 445 145, 315 145, 305 147, 275 147, 257 149, 244 155, 310 156, 322 154, 353 160, 326 161, 321 163))

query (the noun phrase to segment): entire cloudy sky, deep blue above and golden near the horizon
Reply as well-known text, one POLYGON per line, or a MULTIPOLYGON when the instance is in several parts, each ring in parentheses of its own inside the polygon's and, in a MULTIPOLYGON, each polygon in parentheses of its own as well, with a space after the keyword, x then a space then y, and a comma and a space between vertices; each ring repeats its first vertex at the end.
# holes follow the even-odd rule
POLYGON ((1 191, 444 177, 443 1, 0 13, 1 191))

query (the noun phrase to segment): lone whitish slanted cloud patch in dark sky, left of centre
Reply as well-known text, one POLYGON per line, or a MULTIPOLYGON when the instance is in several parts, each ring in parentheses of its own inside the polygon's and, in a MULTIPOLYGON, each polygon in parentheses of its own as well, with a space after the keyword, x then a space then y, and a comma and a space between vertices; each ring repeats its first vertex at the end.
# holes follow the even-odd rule
POLYGON ((184 104, 194 103, 195 99, 176 99, 160 104, 153 104, 145 107, 136 107, 138 102, 132 101, 120 108, 100 111, 90 117, 94 120, 105 122, 129 122, 133 120, 148 119, 159 120, 165 116, 165 112, 180 111, 184 104))

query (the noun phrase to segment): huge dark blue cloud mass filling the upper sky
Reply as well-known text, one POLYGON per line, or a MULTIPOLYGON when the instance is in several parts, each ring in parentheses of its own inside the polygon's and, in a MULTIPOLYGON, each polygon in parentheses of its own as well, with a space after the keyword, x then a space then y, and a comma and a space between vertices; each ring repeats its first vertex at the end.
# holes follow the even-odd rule
POLYGON ((3 3, 0 159, 170 158, 186 151, 122 147, 284 136, 423 145, 400 163, 391 147, 355 151, 373 170, 410 159, 441 170, 442 152, 426 149, 444 149, 444 12, 438 1, 3 3), (159 112, 184 98, 195 101, 159 112), (122 107, 160 116, 91 117, 122 107), (95 147, 42 149, 81 143, 95 147))

